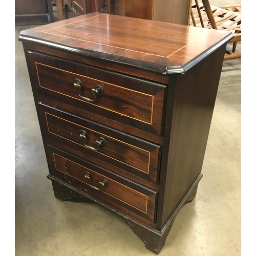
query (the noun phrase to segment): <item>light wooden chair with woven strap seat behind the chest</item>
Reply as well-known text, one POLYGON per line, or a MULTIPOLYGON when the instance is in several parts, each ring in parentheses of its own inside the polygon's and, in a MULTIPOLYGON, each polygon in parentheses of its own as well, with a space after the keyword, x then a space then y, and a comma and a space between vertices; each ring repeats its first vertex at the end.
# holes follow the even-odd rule
POLYGON ((191 4, 191 26, 201 26, 209 29, 231 31, 234 37, 229 41, 233 44, 232 51, 226 50, 224 59, 240 58, 241 52, 236 52, 237 42, 241 41, 241 6, 215 7, 209 0, 193 0, 191 4))

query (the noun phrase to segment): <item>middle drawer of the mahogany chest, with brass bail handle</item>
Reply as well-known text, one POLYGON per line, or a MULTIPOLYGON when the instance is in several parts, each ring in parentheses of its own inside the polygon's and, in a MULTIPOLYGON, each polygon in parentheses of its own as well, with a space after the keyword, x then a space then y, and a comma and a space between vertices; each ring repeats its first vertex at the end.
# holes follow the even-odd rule
POLYGON ((158 182, 161 146, 67 112, 41 106, 47 142, 133 180, 158 182))

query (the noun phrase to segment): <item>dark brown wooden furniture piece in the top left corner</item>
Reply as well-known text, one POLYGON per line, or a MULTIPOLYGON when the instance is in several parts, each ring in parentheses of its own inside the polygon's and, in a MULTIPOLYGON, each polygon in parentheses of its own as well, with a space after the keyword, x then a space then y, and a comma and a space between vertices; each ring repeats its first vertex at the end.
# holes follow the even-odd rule
POLYGON ((15 26, 47 23, 48 6, 45 0, 15 0, 15 26))

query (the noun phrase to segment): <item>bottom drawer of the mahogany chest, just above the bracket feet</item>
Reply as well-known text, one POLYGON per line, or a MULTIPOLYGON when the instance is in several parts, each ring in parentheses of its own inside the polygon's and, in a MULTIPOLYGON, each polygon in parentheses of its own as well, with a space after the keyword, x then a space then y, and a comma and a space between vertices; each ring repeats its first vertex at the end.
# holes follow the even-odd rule
POLYGON ((50 174, 101 203, 148 224, 155 222, 157 191, 48 145, 50 174))

